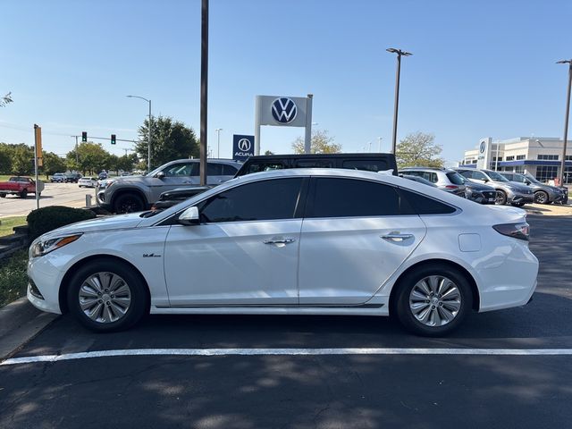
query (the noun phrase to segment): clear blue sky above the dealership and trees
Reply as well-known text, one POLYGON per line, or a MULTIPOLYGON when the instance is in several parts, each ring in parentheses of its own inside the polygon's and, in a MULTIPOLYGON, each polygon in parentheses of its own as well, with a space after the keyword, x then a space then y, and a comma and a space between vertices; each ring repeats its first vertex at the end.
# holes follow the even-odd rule
MULTIPOLYGON (((136 139, 153 114, 199 130, 200 0, 3 0, 0 141, 69 151, 70 135, 136 139)), ((398 139, 433 133, 449 162, 481 137, 561 137, 572 57, 566 1, 211 0, 208 138, 254 132, 256 95, 314 94, 315 128, 345 152, 391 146, 395 56, 398 139)), ((263 127, 262 150, 289 153, 303 129, 263 127)), ((128 143, 117 147, 122 155, 128 143)))

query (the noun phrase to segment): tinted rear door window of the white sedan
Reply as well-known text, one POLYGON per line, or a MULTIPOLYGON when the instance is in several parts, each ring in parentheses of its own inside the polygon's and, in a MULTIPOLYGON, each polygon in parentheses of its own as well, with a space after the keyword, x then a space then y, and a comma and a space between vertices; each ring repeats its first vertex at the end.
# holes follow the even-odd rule
MULTIPOLYGON (((374 181, 315 178, 307 217, 365 217, 400 214, 396 189, 374 181)), ((410 212, 410 210, 409 210, 410 212)))

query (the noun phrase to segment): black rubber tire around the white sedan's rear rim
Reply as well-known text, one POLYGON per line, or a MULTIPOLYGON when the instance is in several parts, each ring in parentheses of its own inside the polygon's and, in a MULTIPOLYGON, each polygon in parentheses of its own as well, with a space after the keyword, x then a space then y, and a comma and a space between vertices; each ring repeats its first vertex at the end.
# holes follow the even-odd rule
MULTIPOLYGON (((473 307, 473 293, 469 282, 467 282, 467 279, 462 273, 450 265, 423 265, 415 271, 407 273, 396 287, 398 289, 396 290, 394 299, 392 299, 391 311, 396 313, 400 323, 406 330, 408 330, 408 332, 412 332, 416 335, 424 337, 441 337, 443 335, 447 335, 454 331, 458 325, 463 322, 467 313, 473 307), (421 282, 423 279, 432 276, 449 279, 457 288, 460 302, 458 303, 459 307, 457 313, 453 315, 454 312, 450 312, 450 314, 453 315, 453 318, 450 321, 442 325, 430 326, 417 320, 416 315, 413 314, 413 310, 410 307, 410 299, 412 298, 411 292, 416 287, 417 282, 421 282)), ((433 298, 431 299, 437 299, 436 294, 432 297, 433 298)), ((437 317, 442 315, 442 309, 440 308, 448 307, 447 303, 445 303, 444 306, 442 305, 441 297, 438 300, 439 302, 434 303, 434 306, 431 301, 426 306, 427 311, 434 311, 437 314, 437 317), (432 310, 431 308, 435 309, 432 310)), ((447 302, 446 300, 443 301, 447 302)), ((425 303, 426 302, 427 301, 425 301, 425 303)), ((421 305, 424 304, 422 303, 421 305)), ((418 312, 417 315, 421 315, 422 313, 424 313, 424 311, 418 312)), ((430 323, 431 321, 432 316, 429 317, 427 322, 430 323)))

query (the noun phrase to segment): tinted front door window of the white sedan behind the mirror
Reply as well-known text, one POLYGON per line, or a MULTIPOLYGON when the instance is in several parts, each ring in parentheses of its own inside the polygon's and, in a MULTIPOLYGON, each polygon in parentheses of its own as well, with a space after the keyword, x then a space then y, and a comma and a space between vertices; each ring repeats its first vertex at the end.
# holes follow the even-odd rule
POLYGON ((225 190, 198 205, 201 222, 292 219, 303 178, 255 181, 225 190))

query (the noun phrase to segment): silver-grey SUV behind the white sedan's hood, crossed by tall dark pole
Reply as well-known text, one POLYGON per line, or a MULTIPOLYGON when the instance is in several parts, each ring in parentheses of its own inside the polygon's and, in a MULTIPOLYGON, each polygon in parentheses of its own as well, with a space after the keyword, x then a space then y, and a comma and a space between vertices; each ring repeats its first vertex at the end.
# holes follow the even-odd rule
MULTIPOLYGON (((206 164, 206 182, 220 185, 231 180, 240 169, 231 160, 209 159, 206 164)), ((145 176, 123 176, 97 186, 97 204, 114 213, 146 210, 165 190, 193 187, 200 184, 198 159, 179 159, 161 165, 145 176)))

